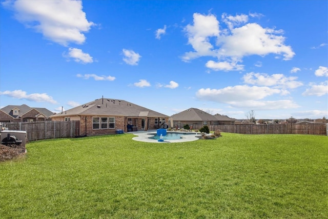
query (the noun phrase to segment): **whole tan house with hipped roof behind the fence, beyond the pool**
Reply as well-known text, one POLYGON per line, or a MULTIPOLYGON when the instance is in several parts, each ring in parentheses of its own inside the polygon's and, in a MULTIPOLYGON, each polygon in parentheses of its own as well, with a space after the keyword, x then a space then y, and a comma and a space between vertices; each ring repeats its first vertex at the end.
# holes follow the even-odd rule
POLYGON ((178 123, 188 125, 218 125, 219 123, 214 115, 196 108, 190 108, 174 114, 170 117, 170 121, 175 124, 178 123))

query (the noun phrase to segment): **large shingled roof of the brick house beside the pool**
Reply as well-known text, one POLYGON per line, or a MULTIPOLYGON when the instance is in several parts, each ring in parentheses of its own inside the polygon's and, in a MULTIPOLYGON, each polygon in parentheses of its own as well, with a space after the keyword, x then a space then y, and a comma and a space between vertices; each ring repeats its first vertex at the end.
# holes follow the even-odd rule
POLYGON ((124 101, 122 99, 100 98, 87 104, 74 107, 61 113, 52 115, 58 116, 73 115, 124 115, 131 117, 169 117, 168 115, 138 106, 136 104, 124 101))

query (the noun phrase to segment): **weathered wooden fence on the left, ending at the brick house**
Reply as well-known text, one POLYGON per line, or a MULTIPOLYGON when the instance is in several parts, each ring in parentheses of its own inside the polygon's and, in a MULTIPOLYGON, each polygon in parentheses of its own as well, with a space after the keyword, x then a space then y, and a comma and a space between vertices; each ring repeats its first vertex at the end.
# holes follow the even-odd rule
POLYGON ((26 131, 29 141, 79 135, 79 121, 2 123, 2 127, 8 128, 8 130, 26 131))

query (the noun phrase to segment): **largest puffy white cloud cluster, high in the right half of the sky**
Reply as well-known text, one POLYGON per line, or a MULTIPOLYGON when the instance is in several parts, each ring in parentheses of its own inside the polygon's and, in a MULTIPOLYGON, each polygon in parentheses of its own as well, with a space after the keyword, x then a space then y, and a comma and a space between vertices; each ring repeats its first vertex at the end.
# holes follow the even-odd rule
MULTIPOLYGON (((254 14, 253 14, 254 15, 254 14)), ((254 15, 255 16, 255 15, 254 15)), ((236 70, 244 56, 276 54, 284 60, 293 58, 295 53, 290 46, 284 45, 285 37, 282 30, 263 28, 256 23, 247 23, 248 15, 222 15, 223 22, 229 29, 221 29, 219 21, 213 14, 202 15, 194 13, 193 24, 186 26, 188 43, 194 51, 186 52, 182 61, 190 62, 201 56, 217 57, 218 61, 208 61, 208 67, 218 65, 218 68, 236 70), (244 23, 247 23, 244 25, 244 23), (243 25, 241 27, 238 27, 243 25), (212 43, 215 41, 216 44, 212 43), (231 63, 229 65, 229 63, 231 63), (224 66, 222 66, 224 65, 224 66)), ((277 56, 277 57, 279 57, 277 56)))

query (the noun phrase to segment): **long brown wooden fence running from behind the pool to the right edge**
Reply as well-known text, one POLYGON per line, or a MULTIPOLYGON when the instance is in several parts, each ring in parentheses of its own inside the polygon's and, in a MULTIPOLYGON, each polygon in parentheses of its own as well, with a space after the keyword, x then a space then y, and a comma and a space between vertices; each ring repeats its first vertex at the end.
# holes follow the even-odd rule
MULTIPOLYGON (((175 124, 177 125, 177 124, 175 124)), ((179 124, 183 128, 185 124, 179 124)), ((191 125, 189 125, 191 126, 191 125)), ((192 125, 193 129, 200 129, 203 125, 192 125)), ((242 125, 208 125, 210 131, 221 131, 239 134, 313 134, 328 135, 328 125, 324 123, 298 124, 242 124, 242 125)))

